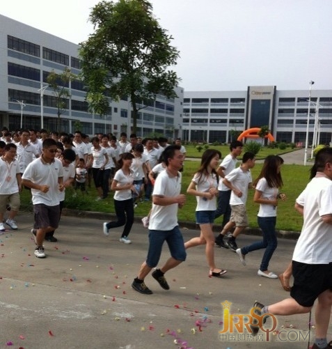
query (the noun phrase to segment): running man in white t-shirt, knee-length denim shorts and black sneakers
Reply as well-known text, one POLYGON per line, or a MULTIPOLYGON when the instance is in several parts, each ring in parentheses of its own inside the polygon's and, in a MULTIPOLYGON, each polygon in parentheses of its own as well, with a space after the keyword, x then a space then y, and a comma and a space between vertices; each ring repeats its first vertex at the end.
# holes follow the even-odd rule
POLYGON ((149 224, 148 257, 143 262, 139 274, 132 282, 132 288, 139 293, 151 295, 152 290, 145 285, 144 279, 153 267, 156 267, 161 256, 162 246, 166 241, 171 251, 171 257, 160 268, 152 272, 161 288, 169 290, 164 274, 186 259, 184 241, 177 224, 177 209, 184 205, 186 196, 180 194, 183 155, 180 146, 169 146, 164 150, 166 170, 156 179, 152 193, 152 212, 149 224))

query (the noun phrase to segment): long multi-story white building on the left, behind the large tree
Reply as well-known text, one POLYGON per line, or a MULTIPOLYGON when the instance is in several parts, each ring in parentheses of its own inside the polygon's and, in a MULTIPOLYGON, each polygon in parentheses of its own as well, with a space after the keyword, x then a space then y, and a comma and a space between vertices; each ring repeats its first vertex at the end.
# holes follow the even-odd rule
MULTIPOLYGON (((47 86, 47 75, 52 70, 61 74, 68 67, 79 75, 78 49, 79 45, 0 15, 0 125, 10 130, 19 129, 21 124, 35 130, 42 125, 49 131, 56 130, 58 109, 54 94, 50 88, 40 93, 40 88, 47 86)), ((101 117, 88 112, 81 82, 70 82, 68 89, 71 98, 61 114, 61 131, 74 132, 79 122, 82 132, 90 135, 131 133, 128 100, 112 101, 109 115, 101 117)), ((176 88, 175 92, 177 98, 158 95, 153 105, 141 109, 137 135, 145 137, 155 132, 179 137, 183 89, 176 88)))

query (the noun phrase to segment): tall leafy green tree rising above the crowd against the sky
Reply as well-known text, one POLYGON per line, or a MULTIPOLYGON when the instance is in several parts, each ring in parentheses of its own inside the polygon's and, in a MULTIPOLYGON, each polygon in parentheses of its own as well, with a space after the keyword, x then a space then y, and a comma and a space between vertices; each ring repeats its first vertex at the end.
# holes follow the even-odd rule
POLYGON ((101 1, 89 21, 95 32, 80 44, 86 100, 94 112, 106 115, 107 97, 129 96, 136 132, 139 110, 157 94, 176 97, 179 79, 168 67, 176 64, 179 52, 146 0, 101 1))

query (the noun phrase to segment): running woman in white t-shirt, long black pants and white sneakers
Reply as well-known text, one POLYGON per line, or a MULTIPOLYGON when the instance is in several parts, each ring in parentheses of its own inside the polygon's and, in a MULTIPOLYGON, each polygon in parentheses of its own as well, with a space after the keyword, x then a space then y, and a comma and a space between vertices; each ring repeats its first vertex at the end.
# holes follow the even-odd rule
POLYGON ((132 200, 132 192, 136 192, 134 186, 134 177, 130 166, 134 155, 132 153, 123 153, 119 160, 121 168, 116 171, 111 185, 111 190, 114 190, 114 208, 116 210, 117 222, 104 222, 103 231, 104 235, 109 235, 109 229, 117 228, 118 226, 125 226, 123 228, 120 242, 130 244, 128 239, 132 224, 134 223, 134 203, 132 200))

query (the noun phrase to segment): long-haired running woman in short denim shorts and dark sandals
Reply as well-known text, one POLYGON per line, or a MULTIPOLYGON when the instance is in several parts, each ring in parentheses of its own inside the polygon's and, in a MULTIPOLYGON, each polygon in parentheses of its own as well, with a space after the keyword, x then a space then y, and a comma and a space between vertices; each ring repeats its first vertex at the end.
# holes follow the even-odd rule
POLYGON ((216 211, 219 177, 216 168, 221 159, 219 150, 207 149, 202 155, 200 168, 193 176, 187 193, 196 196, 196 223, 200 226, 200 236, 192 238, 184 244, 186 249, 198 245, 206 245, 205 254, 210 267, 210 277, 221 277, 226 270, 218 269, 214 263, 214 233, 212 226, 216 211))

